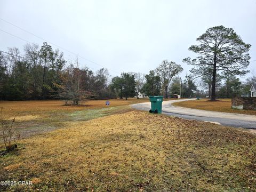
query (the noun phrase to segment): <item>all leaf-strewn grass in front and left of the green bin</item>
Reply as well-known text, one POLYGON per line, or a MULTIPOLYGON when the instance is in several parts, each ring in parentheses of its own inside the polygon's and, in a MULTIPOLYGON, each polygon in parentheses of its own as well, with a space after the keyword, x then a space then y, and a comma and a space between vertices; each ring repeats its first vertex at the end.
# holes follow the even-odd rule
POLYGON ((30 131, 54 127, 0 156, 0 181, 33 181, 2 190, 256 190, 256 136, 247 130, 134 111, 118 101, 89 109, 33 102, 2 102, 30 131))

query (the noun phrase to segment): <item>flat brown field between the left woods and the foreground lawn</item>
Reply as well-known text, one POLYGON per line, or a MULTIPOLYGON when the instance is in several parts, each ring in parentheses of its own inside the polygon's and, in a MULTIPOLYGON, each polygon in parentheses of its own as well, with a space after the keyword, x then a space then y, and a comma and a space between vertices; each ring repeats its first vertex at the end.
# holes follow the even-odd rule
MULTIPOLYGON (((11 121, 15 117, 20 137, 26 138, 37 133, 48 132, 60 128, 63 121, 87 121, 111 114, 130 111, 127 105, 147 102, 147 99, 111 99, 110 106, 106 100, 91 100, 85 106, 65 106, 64 101, 1 101, 5 119, 11 121)), ((2 138, 0 138, 0 142, 2 138)))

